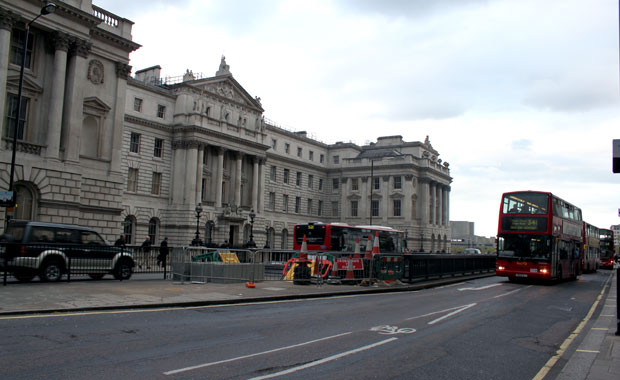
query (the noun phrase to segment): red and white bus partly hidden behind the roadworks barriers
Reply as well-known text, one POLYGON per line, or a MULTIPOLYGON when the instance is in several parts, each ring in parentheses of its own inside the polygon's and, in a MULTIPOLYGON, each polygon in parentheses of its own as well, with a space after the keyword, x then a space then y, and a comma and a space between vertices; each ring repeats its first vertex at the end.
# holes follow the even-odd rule
POLYGON ((301 249, 304 235, 308 251, 354 252, 359 238, 360 250, 364 253, 368 236, 374 242, 379 233, 381 253, 403 253, 405 251, 404 232, 383 226, 350 226, 346 223, 306 223, 295 225, 293 248, 301 249))

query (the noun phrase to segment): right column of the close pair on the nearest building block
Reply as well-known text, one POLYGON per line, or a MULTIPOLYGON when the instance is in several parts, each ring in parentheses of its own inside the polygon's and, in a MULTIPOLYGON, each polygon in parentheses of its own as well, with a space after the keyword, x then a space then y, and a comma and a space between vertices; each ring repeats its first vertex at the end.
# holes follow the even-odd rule
POLYGON ((69 59, 67 84, 64 99, 62 147, 65 161, 78 162, 80 157, 80 136, 82 134, 84 95, 82 81, 86 73, 86 58, 91 44, 76 40, 73 56, 69 59))

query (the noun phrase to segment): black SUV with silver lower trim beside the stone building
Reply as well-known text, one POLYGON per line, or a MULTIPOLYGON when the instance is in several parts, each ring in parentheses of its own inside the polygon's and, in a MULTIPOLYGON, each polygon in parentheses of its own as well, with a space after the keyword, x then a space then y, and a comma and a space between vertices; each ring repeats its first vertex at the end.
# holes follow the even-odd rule
POLYGON ((0 267, 19 281, 38 275, 42 281, 59 281, 64 273, 88 274, 101 279, 111 273, 128 280, 134 267, 134 254, 110 246, 89 227, 69 224, 9 223, 2 235, 0 267))

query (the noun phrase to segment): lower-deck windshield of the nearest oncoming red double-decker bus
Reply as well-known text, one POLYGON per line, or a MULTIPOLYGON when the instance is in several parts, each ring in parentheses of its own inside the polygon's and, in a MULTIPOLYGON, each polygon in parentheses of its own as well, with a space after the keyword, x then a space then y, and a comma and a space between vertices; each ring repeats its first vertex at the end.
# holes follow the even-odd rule
POLYGON ((551 239, 548 236, 510 234, 500 236, 497 241, 499 257, 522 257, 548 260, 551 254, 551 239))

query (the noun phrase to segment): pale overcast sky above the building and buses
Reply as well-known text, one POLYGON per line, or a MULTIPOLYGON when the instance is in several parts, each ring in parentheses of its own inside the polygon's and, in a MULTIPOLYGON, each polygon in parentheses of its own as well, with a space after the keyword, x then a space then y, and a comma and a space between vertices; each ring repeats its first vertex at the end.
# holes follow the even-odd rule
POLYGON ((133 72, 214 76, 325 143, 429 136, 450 219, 497 234, 501 194, 551 191, 620 224, 618 0, 99 0, 133 21, 133 72))

